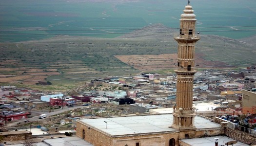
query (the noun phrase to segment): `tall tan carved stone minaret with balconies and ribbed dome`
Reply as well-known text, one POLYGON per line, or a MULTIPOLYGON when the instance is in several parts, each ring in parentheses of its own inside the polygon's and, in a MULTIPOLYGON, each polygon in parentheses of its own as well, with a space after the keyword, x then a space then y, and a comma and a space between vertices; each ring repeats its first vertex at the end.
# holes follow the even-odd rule
MULTIPOLYGON (((190 2, 189 2, 190 3, 190 2)), ((188 3, 181 14, 177 59, 177 94, 176 107, 173 112, 172 128, 179 130, 195 129, 193 104, 193 80, 197 72, 195 66, 195 44, 200 38, 195 34, 196 15, 188 3)))

